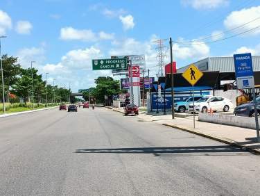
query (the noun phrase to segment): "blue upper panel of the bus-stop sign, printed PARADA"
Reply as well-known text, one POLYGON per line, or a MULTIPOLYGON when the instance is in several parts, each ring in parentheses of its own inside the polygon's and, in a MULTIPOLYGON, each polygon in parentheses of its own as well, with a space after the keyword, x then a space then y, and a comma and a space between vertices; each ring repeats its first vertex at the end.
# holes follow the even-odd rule
POLYGON ((234 54, 236 78, 253 76, 252 56, 247 54, 234 54))

